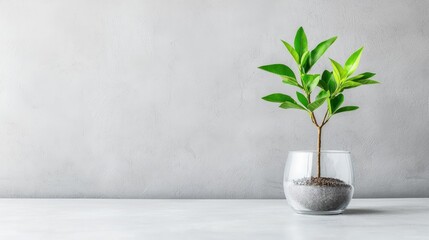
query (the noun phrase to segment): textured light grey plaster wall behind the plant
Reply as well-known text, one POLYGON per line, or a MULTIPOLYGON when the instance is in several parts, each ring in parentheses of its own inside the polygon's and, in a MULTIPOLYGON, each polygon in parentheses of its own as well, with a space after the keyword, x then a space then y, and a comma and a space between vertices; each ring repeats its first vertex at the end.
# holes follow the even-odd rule
MULTIPOLYGON (((0 196, 282 198, 308 116, 256 67, 304 26, 382 85, 346 96, 325 149, 357 197, 429 197, 429 1, 0 1, 0 196)), ((328 67, 326 58, 314 70, 328 67)))

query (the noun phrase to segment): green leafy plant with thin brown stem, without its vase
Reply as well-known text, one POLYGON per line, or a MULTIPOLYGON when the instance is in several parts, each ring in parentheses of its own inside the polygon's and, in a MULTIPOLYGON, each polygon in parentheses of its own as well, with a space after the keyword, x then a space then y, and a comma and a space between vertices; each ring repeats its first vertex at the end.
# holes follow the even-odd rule
POLYGON ((322 128, 336 114, 353 111, 357 106, 342 106, 344 102, 343 92, 346 89, 359 87, 366 84, 375 84, 377 81, 371 79, 375 73, 364 72, 353 75, 356 71, 363 47, 354 52, 345 62, 345 65, 330 59, 333 71, 325 70, 322 74, 311 74, 311 68, 316 64, 320 57, 335 42, 337 37, 332 37, 319 43, 313 50, 308 50, 307 36, 304 29, 300 27, 296 33, 294 46, 283 41, 284 46, 289 51, 293 60, 295 60, 299 75, 298 77, 292 69, 284 64, 271 64, 259 67, 262 70, 279 75, 283 83, 298 88, 296 92, 296 101, 293 97, 274 93, 263 97, 262 99, 280 103, 284 109, 298 109, 306 112, 317 128, 317 177, 320 178, 320 151, 322 146, 322 128), (312 93, 319 88, 316 97, 311 97, 312 93), (317 119, 315 111, 326 103, 326 110, 323 118, 317 119))

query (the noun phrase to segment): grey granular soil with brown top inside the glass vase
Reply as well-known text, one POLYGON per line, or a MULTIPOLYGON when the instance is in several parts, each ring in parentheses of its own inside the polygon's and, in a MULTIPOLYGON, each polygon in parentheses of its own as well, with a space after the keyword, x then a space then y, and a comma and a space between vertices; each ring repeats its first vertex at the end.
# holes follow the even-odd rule
POLYGON ((336 178, 311 177, 286 183, 289 201, 301 208, 329 212, 347 207, 352 199, 353 187, 336 178))

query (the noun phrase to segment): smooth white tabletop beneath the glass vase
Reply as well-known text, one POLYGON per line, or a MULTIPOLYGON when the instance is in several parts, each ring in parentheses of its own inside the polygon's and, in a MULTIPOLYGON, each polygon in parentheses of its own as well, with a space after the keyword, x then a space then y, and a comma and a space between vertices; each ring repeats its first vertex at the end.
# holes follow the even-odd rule
POLYGON ((336 216, 286 200, 0 199, 0 239, 429 239, 429 199, 353 199, 336 216))

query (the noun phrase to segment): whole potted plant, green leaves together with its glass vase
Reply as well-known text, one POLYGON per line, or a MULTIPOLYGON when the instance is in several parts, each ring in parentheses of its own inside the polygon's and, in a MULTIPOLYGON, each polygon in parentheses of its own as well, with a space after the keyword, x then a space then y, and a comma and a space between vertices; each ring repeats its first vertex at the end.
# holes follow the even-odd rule
POLYGON ((338 214, 349 204, 354 191, 350 153, 322 151, 322 129, 333 116, 358 109, 357 106, 343 106, 346 90, 378 83, 371 79, 374 73, 354 74, 363 48, 354 52, 344 65, 330 59, 332 71, 310 73, 311 68, 336 39, 337 37, 329 38, 310 51, 307 36, 300 27, 294 46, 282 40, 296 62, 299 74, 295 74, 284 64, 259 67, 280 76, 284 84, 298 90, 295 93, 296 100, 283 93, 270 94, 262 99, 280 104, 283 109, 295 109, 308 114, 317 129, 317 150, 290 151, 286 162, 285 195, 289 205, 298 213, 338 214))

